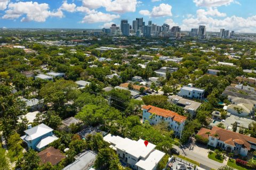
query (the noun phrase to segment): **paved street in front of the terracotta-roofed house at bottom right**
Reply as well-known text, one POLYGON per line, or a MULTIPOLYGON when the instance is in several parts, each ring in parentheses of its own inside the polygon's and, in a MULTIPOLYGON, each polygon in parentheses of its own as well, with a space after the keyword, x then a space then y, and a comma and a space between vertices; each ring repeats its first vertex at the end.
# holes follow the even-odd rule
POLYGON ((207 169, 207 167, 211 167, 214 169, 218 169, 219 167, 223 166, 224 164, 215 162, 214 160, 209 159, 206 155, 207 149, 199 148, 194 146, 193 149, 191 148, 181 148, 177 146, 173 146, 173 148, 180 151, 180 155, 186 156, 189 159, 195 160, 196 162, 202 164, 202 168, 207 169))

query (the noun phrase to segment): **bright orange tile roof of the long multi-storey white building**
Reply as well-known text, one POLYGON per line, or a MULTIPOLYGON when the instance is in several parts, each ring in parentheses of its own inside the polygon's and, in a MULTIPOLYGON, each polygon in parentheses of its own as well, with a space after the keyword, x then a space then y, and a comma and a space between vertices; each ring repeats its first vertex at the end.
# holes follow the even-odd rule
POLYGON ((186 121, 187 117, 185 116, 181 116, 178 113, 163 109, 163 108, 159 108, 159 107, 155 107, 155 106, 151 106, 151 105, 144 105, 142 106, 143 109, 147 109, 147 112, 152 113, 152 114, 156 114, 159 116, 163 116, 163 117, 171 117, 173 118, 174 121, 177 122, 184 122, 186 121))

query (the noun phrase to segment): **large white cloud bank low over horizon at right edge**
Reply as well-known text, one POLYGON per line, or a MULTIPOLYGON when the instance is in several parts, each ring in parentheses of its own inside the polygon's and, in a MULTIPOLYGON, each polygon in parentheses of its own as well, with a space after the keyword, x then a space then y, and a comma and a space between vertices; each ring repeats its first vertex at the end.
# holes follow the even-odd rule
MULTIPOLYGON (((206 12, 207 13, 207 12, 206 12)), ((198 25, 206 25, 207 31, 220 31, 221 28, 234 30, 237 32, 255 32, 256 15, 249 18, 238 16, 229 16, 223 19, 214 19, 210 14, 198 14, 193 18, 187 18, 182 21, 182 30, 198 28, 198 25)))

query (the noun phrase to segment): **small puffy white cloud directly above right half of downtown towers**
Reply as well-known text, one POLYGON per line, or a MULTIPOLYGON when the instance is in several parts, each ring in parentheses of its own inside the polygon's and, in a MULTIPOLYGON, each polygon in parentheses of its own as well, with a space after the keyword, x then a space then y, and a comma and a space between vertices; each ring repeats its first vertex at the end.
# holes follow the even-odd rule
POLYGON ((169 4, 160 4, 159 6, 154 6, 152 11, 141 10, 139 12, 142 15, 148 15, 153 18, 161 17, 161 16, 172 16, 172 6, 169 4))

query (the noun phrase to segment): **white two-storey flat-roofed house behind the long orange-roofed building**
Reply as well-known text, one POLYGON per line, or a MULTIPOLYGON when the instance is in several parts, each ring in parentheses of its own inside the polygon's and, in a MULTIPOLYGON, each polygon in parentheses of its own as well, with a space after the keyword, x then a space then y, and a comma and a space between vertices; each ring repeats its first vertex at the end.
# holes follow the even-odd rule
POLYGON ((204 91, 205 91, 204 89, 200 89, 196 87, 183 86, 180 89, 178 96, 186 97, 186 98, 203 99, 204 91))

